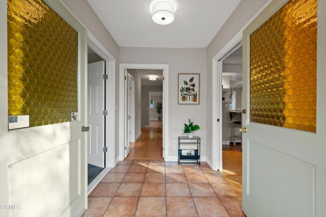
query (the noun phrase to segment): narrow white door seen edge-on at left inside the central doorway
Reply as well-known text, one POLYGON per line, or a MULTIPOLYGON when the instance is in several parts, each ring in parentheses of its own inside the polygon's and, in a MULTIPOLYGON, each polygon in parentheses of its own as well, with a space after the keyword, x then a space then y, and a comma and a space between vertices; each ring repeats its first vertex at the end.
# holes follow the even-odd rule
POLYGON ((130 151, 130 74, 125 71, 125 144, 124 157, 130 151))

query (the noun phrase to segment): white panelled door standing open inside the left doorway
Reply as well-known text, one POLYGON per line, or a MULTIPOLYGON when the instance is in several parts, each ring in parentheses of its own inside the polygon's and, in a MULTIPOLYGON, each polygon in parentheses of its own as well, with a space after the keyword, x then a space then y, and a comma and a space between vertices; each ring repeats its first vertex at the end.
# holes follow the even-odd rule
POLYGON ((104 167, 104 61, 88 64, 88 164, 104 167))

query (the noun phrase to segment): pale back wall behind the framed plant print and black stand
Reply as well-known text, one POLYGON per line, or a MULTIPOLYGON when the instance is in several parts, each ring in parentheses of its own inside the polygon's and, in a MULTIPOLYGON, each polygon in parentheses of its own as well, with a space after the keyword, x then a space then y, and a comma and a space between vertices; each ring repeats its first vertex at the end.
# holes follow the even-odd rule
MULTIPOLYGON (((169 153, 177 159, 178 135, 183 135, 183 124, 190 118, 201 129, 195 132, 202 138, 202 155, 206 154, 206 49, 205 48, 137 48, 120 47, 120 63, 169 65, 169 153), (200 73, 200 104, 178 104, 178 73, 200 73)), ((164 96, 166 97, 166 96, 164 96)), ((167 118, 167 117, 164 117, 167 118)), ((210 121, 210 120, 209 120, 210 121)), ((174 158, 173 158, 174 157, 174 158)))

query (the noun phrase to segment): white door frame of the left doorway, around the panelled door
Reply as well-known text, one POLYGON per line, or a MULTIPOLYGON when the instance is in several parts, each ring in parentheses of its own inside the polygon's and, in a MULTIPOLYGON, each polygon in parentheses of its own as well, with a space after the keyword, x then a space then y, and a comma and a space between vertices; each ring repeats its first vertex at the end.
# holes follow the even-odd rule
MULTIPOLYGON (((103 137, 103 142, 100 148, 97 147, 95 152, 101 153, 101 166, 95 168, 89 166, 90 173, 93 174, 93 179, 88 185, 88 193, 90 193, 93 188, 100 182, 100 180, 105 176, 105 174, 110 170, 110 168, 115 166, 115 58, 111 55, 110 52, 90 33, 88 32, 88 63, 91 62, 103 62, 103 67, 105 70, 106 76, 101 78, 106 80, 103 88, 103 96, 100 97, 98 101, 101 101, 103 104, 100 113, 101 120, 103 120, 103 126, 97 130, 101 130, 103 137), (105 117, 105 118, 104 118, 105 117), (106 146, 106 150, 103 147, 106 146), (104 152, 105 151, 105 156, 104 152), (94 173, 91 172, 94 170, 94 173), (99 172, 99 173, 98 173, 99 172)), ((103 81, 103 80, 102 80, 103 81)), ((88 94, 90 93, 91 88, 88 88, 88 94)), ((88 109, 88 114, 90 109, 88 109)), ((92 118, 93 119, 93 118, 92 118)), ((91 124, 91 120, 89 123, 91 124)), ((88 125, 90 126, 90 125, 88 125)), ((91 128, 92 126, 90 126, 91 128)), ((90 137, 90 133, 88 134, 90 137)), ((93 138, 95 141, 97 138, 93 138)), ((89 174, 90 174, 89 173, 89 174)))

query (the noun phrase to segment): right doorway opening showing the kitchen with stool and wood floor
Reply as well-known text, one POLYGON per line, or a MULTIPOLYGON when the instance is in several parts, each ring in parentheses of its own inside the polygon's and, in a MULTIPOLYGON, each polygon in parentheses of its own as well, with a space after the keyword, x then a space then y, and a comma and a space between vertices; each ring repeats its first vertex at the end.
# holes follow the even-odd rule
POLYGON ((242 43, 235 45, 222 63, 222 173, 239 192, 242 191, 242 43))

